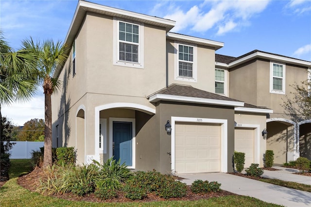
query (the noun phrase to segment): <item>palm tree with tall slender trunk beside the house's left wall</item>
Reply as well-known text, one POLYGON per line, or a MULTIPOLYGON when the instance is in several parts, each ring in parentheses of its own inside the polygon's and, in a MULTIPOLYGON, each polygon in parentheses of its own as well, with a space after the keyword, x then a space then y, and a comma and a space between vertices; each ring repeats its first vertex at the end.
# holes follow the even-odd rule
POLYGON ((56 67, 61 66, 67 59, 67 47, 60 41, 54 43, 46 40, 40 45, 35 43, 32 38, 23 42, 25 49, 32 50, 38 57, 38 83, 42 84, 44 93, 44 156, 43 167, 52 166, 52 102, 51 96, 59 86, 57 78, 52 78, 56 67))

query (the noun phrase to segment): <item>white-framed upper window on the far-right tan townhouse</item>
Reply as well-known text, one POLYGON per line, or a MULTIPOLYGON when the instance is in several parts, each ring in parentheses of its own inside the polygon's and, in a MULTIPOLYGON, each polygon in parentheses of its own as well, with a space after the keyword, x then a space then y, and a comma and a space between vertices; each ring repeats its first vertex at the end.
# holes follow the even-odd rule
POLYGON ((270 62, 270 93, 285 94, 286 65, 270 62))

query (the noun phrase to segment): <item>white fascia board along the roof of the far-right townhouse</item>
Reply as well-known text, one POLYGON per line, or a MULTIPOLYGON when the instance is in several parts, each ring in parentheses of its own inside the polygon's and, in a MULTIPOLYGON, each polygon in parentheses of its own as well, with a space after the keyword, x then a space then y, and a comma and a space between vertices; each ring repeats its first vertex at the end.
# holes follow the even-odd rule
POLYGON ((242 57, 239 60, 236 60, 234 62, 229 63, 228 67, 233 67, 235 65, 238 65, 242 62, 248 61, 248 60, 255 58, 255 57, 263 57, 263 58, 267 58, 269 60, 276 60, 276 61, 281 61, 281 62, 285 62, 285 63, 292 63, 292 64, 305 66, 305 67, 308 67, 308 66, 310 67, 310 65, 311 65, 311 62, 304 61, 304 60, 297 60, 297 59, 293 59, 290 57, 282 57, 282 56, 278 56, 275 54, 267 54, 265 52, 255 52, 255 53, 252 53, 252 54, 247 55, 245 57, 242 57))

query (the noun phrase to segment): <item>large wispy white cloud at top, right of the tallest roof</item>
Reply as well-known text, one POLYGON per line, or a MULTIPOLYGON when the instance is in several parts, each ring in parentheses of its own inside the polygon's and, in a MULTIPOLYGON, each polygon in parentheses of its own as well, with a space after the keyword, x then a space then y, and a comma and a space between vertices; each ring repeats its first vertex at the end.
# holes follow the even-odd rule
POLYGON ((171 14, 164 18, 176 21, 173 32, 186 28, 195 32, 205 32, 218 27, 217 35, 223 35, 236 27, 249 25, 250 18, 261 13, 268 3, 269 0, 204 1, 192 6, 188 11, 175 7, 174 10, 170 10, 171 14))

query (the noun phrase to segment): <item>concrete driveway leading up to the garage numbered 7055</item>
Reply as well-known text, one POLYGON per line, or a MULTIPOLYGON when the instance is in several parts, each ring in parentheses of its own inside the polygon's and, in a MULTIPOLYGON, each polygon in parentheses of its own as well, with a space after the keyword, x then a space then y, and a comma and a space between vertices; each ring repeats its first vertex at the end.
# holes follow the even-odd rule
POLYGON ((199 173, 183 174, 180 177, 185 178, 181 182, 187 185, 191 185, 195 180, 217 181, 222 184, 222 190, 239 195, 247 195, 268 203, 287 207, 311 207, 311 192, 294 190, 237 175, 227 173, 199 173))

